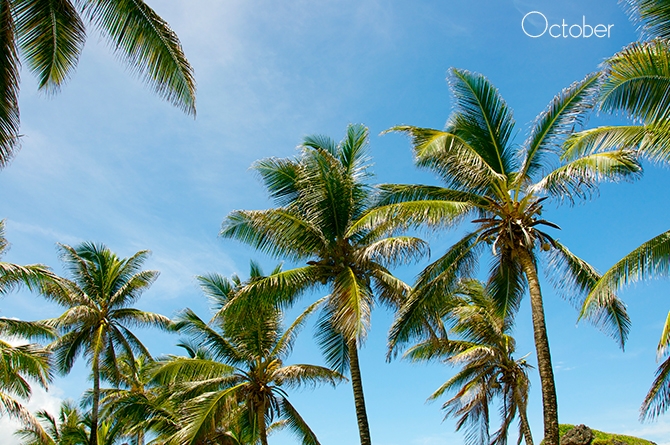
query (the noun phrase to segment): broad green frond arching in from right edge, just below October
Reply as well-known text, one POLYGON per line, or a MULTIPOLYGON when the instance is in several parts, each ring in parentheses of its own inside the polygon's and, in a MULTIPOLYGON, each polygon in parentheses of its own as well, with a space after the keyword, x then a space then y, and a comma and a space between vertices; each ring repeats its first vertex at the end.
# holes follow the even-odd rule
POLYGON ((624 111, 645 124, 670 117, 670 44, 635 42, 605 62, 601 108, 624 111))

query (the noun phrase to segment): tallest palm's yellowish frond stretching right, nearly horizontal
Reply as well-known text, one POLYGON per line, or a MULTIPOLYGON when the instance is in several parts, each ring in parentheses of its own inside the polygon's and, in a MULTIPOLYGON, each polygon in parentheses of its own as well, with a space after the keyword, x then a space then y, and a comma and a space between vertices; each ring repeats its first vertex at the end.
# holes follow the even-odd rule
POLYGON ((634 180, 642 166, 631 150, 608 151, 582 156, 561 165, 531 187, 533 193, 548 193, 574 202, 588 198, 604 181, 634 180))

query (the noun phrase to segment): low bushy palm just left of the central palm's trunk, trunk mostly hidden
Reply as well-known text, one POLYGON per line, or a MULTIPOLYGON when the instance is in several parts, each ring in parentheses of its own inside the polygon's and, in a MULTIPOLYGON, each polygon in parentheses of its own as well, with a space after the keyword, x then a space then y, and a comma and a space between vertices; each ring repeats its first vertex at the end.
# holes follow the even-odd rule
MULTIPOLYGON (((262 278, 260 268, 252 264, 249 282, 262 278)), ((242 443, 267 445, 268 425, 281 419, 303 444, 318 445, 285 388, 318 383, 334 386, 344 377, 321 366, 284 364, 300 327, 318 304, 284 331, 282 313, 274 306, 252 301, 240 308, 238 299, 235 313, 221 309, 245 284, 236 277, 230 281, 211 274, 199 280, 205 293, 215 299, 216 315, 206 323, 186 309, 176 328, 189 336, 182 346, 190 357, 169 358, 155 375, 159 384, 171 385, 174 397, 186 400, 184 426, 176 442, 201 443, 204 437, 219 434, 237 437, 242 443)))

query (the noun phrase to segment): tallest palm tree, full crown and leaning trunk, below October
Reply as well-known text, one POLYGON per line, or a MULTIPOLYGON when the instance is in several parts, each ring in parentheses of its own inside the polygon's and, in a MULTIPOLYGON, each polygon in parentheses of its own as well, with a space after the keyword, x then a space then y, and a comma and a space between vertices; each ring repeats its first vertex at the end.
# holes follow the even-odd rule
MULTIPOLYGON (((560 142, 589 110, 597 79, 589 75, 554 97, 517 149, 512 112, 495 87, 480 74, 451 69, 455 110, 446 129, 400 126, 390 130, 412 138, 417 165, 434 171, 446 187, 382 186, 377 208, 354 226, 374 227, 380 221, 396 227, 455 226, 473 217, 474 230, 419 275, 392 326, 391 347, 425 332, 423 314, 439 309, 459 279, 474 274, 489 246, 493 263, 487 292, 501 314, 515 313, 526 290, 530 294, 547 445, 558 444, 558 411, 538 259, 542 252, 548 253, 555 265, 552 269, 563 274, 564 287, 578 292, 588 291, 599 275, 541 230, 558 228, 542 219, 543 202, 550 196, 585 197, 601 180, 634 177, 640 171, 627 151, 584 156, 551 169, 551 156, 556 156, 560 142)), ((612 333, 624 342, 629 320, 615 297, 594 315, 596 321, 609 322, 612 333)))

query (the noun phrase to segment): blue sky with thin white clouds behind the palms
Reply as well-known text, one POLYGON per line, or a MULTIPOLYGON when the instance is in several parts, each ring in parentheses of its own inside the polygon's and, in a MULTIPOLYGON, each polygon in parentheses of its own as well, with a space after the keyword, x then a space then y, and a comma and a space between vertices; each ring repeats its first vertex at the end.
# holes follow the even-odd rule
MULTIPOLYGON (((0 171, 0 217, 7 220, 12 243, 4 260, 19 264, 41 262, 62 272, 56 243, 102 242, 122 256, 150 249, 147 268, 161 275, 138 306, 169 316, 184 307, 208 315, 195 275, 246 276, 250 259, 267 270, 277 262, 217 237, 230 211, 272 205, 249 170, 253 161, 294 156, 306 135, 339 140, 347 124, 363 123, 370 128, 375 182, 434 183, 413 167, 405 138, 378 135, 399 124, 442 128, 452 106, 445 82, 450 67, 480 72, 500 89, 514 109, 522 140, 556 93, 636 39, 620 5, 604 0, 149 3, 178 33, 195 68, 197 118, 152 94, 90 30, 79 68, 59 94, 37 93, 30 73, 22 73, 23 148, 0 171), (604 38, 530 38, 521 20, 531 11, 542 12, 549 25, 565 20, 614 26, 604 38)), ((528 29, 540 32, 540 16, 532 18, 528 29)), ((590 124, 603 121, 594 117, 590 124)), ((546 217, 562 227, 555 235, 573 252, 606 270, 668 229, 669 186, 667 169, 647 165, 641 181, 606 185, 599 197, 574 207, 548 204, 546 217)), ((434 255, 457 236, 425 234, 434 255)), ((425 265, 397 273, 412 282, 425 265)), ((625 352, 588 324, 577 325, 576 310, 549 281, 543 284, 561 422, 670 444, 670 415, 648 424, 637 420, 656 368, 668 283, 642 283, 621 293, 633 320, 625 352)), ((527 305, 518 316, 517 350, 531 353, 534 361, 527 305)), ((2 316, 40 319, 59 313, 27 292, 0 301, 2 316)), ((373 314, 361 352, 374 443, 461 443, 454 422, 442 422, 440 403, 424 403, 453 371, 440 364, 386 363, 391 320, 383 309, 373 314)), ((156 355, 177 352, 176 337, 142 334, 156 355)), ((292 360, 320 363, 309 327, 292 360)), ((80 361, 30 406, 55 408, 58 399, 78 398, 86 376, 80 361)), ((531 426, 539 441, 537 378, 531 399, 531 426)), ((356 442, 349 385, 298 391, 291 400, 324 445, 356 442)), ((3 437, 11 430, 6 420, 0 428, 3 437)), ((281 433, 270 442, 295 443, 281 433)))

